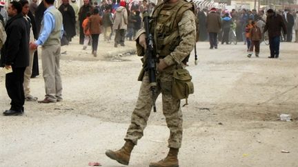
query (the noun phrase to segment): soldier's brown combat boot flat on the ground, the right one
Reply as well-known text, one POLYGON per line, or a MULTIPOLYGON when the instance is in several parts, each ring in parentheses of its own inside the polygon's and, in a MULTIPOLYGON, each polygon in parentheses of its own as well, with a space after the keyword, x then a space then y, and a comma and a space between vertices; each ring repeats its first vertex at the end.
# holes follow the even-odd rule
POLYGON ((149 167, 179 167, 178 151, 179 148, 170 148, 168 156, 165 159, 161 159, 159 162, 151 162, 149 167))

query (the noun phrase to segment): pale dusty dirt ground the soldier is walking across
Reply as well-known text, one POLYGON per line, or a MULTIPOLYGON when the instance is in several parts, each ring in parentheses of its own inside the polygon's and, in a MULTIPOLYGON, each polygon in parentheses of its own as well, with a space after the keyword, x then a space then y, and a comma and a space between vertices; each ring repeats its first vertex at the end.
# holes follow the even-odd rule
MULTIPOLYGON (((298 166, 297 43, 281 43, 279 59, 246 57, 246 45, 197 43, 189 71, 195 93, 183 111, 179 164, 192 166, 298 166), (291 122, 281 122, 287 113, 291 122), (281 151, 290 153, 281 153, 281 151)), ((141 67, 135 43, 113 47, 99 43, 99 56, 78 45, 62 48, 63 102, 26 102, 25 114, 1 119, 0 166, 122 166, 104 154, 120 148, 137 100, 141 67)), ((41 63, 41 61, 39 61, 41 63)), ((44 96, 41 75, 32 79, 32 95, 44 96)), ((5 75, 0 72, 0 109, 10 107, 5 75)), ((184 100, 181 102, 184 103, 184 100)), ((169 131, 157 100, 144 137, 129 166, 148 166, 166 156, 169 131)))

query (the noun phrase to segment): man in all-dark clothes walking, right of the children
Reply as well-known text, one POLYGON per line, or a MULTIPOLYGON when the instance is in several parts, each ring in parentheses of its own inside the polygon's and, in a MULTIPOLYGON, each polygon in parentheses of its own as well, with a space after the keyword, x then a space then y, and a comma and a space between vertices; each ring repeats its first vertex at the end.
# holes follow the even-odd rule
POLYGON ((270 56, 268 58, 279 58, 281 29, 284 30, 284 34, 287 34, 282 16, 275 13, 272 9, 267 10, 267 21, 263 33, 268 31, 270 47, 270 56))

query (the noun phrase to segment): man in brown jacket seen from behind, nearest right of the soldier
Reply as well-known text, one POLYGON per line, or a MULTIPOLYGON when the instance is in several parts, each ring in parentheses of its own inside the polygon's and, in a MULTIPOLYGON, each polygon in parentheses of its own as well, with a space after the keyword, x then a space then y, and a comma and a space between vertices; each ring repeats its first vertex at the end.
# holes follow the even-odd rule
POLYGON ((221 18, 216 9, 212 8, 207 16, 207 31, 209 32, 210 49, 217 49, 217 33, 221 30, 221 18))

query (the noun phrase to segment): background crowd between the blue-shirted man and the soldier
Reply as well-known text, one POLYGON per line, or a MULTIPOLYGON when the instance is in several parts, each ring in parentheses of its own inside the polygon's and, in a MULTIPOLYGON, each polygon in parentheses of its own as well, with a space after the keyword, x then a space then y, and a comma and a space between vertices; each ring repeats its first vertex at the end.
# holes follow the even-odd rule
POLYGON ((146 0, 142 3, 140 1, 126 3, 126 1, 113 0, 102 1, 100 4, 96 2, 92 4, 85 0, 77 13, 79 43, 83 44, 83 49, 86 49, 91 41, 94 56, 97 56, 96 46, 98 45, 98 38, 95 34, 103 33, 104 41, 108 43, 111 41, 112 34, 115 34, 114 47, 125 46, 125 40, 132 41, 136 32, 141 28, 141 13, 145 10, 152 12, 154 6, 154 3, 148 3, 146 0), (92 14, 98 15, 97 21, 92 19, 95 17, 92 14), (94 26, 95 24, 97 26, 94 26))

